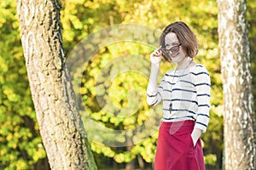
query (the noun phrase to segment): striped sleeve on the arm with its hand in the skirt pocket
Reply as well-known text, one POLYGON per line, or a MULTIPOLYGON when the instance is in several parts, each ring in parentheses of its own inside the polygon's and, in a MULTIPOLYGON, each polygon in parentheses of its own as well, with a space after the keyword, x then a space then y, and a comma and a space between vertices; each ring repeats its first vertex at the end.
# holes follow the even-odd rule
POLYGON ((210 111, 211 81, 207 69, 203 65, 197 65, 195 71, 195 90, 197 95, 198 110, 195 127, 203 133, 207 131, 210 111))

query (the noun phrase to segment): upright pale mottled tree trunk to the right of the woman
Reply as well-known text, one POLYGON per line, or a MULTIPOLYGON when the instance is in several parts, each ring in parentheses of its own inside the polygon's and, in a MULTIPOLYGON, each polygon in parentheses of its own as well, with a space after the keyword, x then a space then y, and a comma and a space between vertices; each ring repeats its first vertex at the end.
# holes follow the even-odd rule
POLYGON ((218 0, 218 36, 224 86, 224 169, 255 169, 246 0, 218 0))

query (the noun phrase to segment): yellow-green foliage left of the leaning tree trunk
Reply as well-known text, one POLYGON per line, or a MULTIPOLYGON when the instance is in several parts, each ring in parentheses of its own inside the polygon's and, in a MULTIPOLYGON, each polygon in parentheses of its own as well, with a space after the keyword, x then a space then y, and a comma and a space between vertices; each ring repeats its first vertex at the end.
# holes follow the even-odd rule
POLYGON ((0 169, 31 169, 45 151, 35 123, 15 2, 0 2, 0 169))

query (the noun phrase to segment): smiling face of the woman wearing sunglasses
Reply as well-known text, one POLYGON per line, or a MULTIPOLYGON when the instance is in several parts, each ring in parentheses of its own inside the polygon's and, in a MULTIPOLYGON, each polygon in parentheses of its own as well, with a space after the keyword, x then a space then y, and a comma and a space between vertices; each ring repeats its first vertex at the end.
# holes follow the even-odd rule
POLYGON ((177 36, 173 32, 169 32, 165 38, 166 49, 168 51, 168 56, 172 59, 172 62, 179 63, 186 57, 186 52, 183 49, 183 44, 177 39, 177 36), (168 49, 171 49, 168 50, 168 49))

